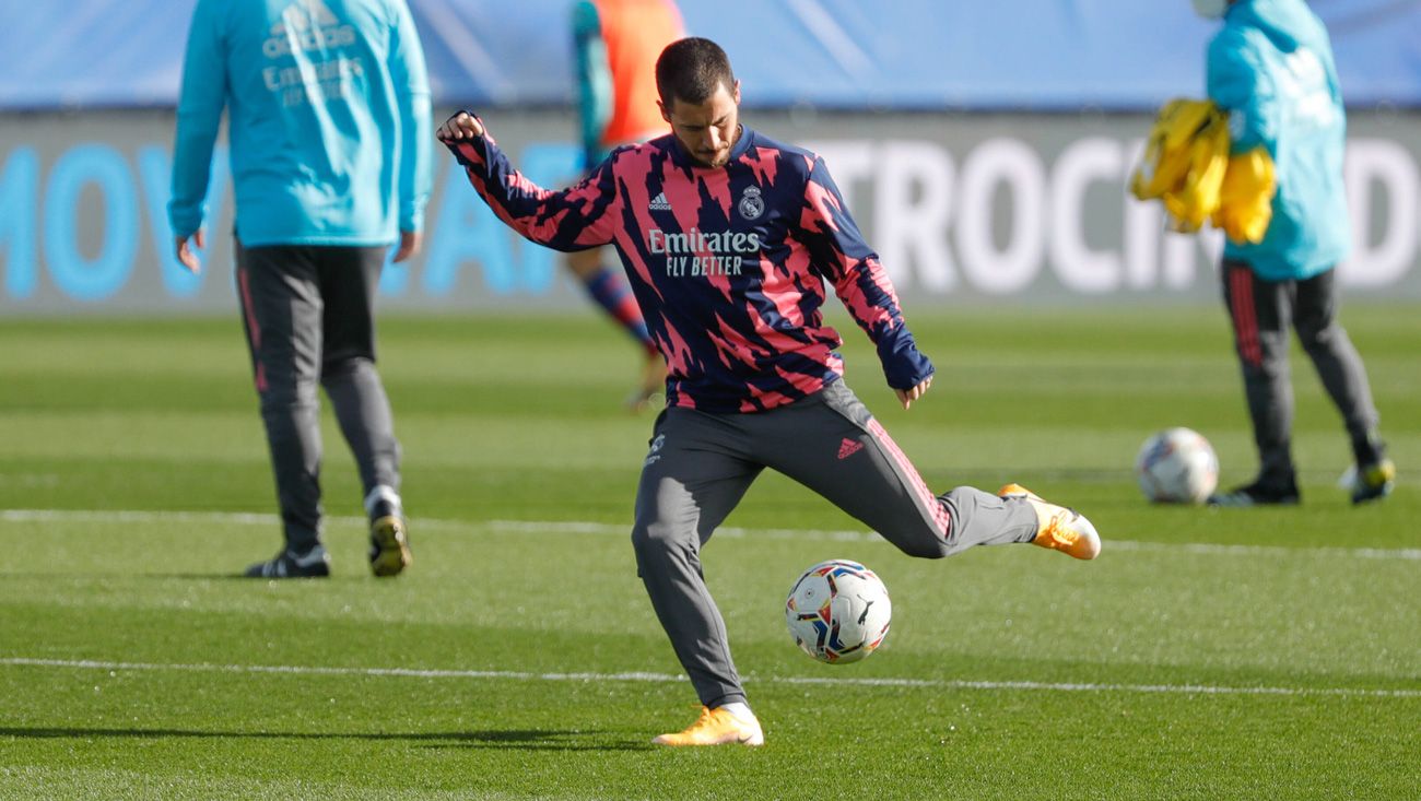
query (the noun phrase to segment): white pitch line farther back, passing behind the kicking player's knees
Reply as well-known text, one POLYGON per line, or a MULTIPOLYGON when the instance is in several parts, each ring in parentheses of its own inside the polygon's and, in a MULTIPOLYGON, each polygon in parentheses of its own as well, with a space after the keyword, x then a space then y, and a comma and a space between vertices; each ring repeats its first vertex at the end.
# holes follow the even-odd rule
MULTIPOLYGON (((362 517, 327 517, 327 521, 338 525, 365 525, 362 517)), ((0 510, 0 523, 216 523, 225 525, 279 525, 280 520, 274 514, 256 514, 243 511, 144 511, 144 510, 67 510, 67 508, 10 508, 0 510)), ((618 525, 610 523, 591 523, 576 520, 439 520, 432 517, 416 517, 412 521, 415 528, 453 530, 453 531, 514 531, 529 534, 597 534, 625 537, 631 533, 631 524, 618 525)), ((735 528, 723 527, 716 530, 716 537, 757 537, 764 540, 818 540, 834 543, 874 543, 880 537, 871 531, 834 531, 816 528, 735 528)), ((1158 551, 1185 552, 1199 555, 1222 557, 1351 557, 1358 560, 1405 560, 1421 561, 1421 548, 1336 548, 1336 547, 1300 547, 1287 548, 1282 545, 1225 545, 1219 543, 1144 543, 1138 540, 1110 540, 1106 538, 1107 555, 1113 551, 1158 551)))

